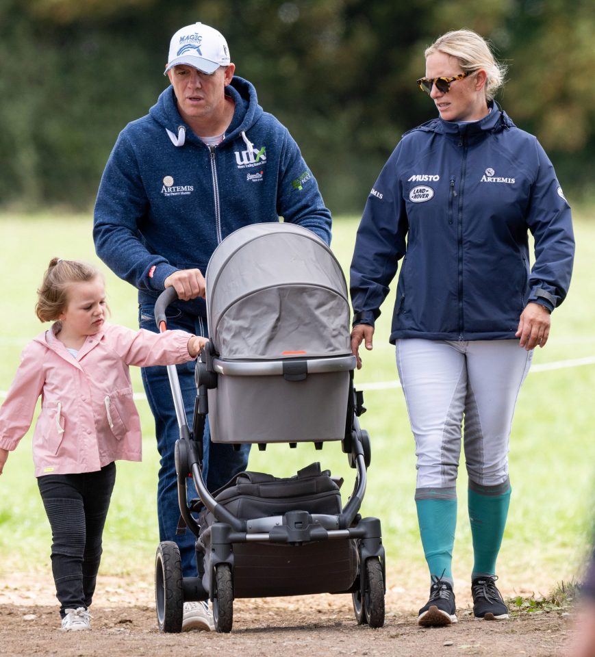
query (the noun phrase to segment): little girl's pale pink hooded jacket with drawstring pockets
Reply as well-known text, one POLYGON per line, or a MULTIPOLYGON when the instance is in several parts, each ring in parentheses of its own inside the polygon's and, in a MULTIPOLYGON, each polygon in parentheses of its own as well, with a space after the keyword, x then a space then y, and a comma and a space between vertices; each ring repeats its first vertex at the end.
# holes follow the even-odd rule
POLYGON ((140 461, 138 411, 129 365, 192 360, 185 331, 133 331, 105 324, 73 357, 53 331, 23 350, 0 409, 0 448, 14 450, 41 395, 33 435, 35 476, 94 472, 116 459, 140 461))

